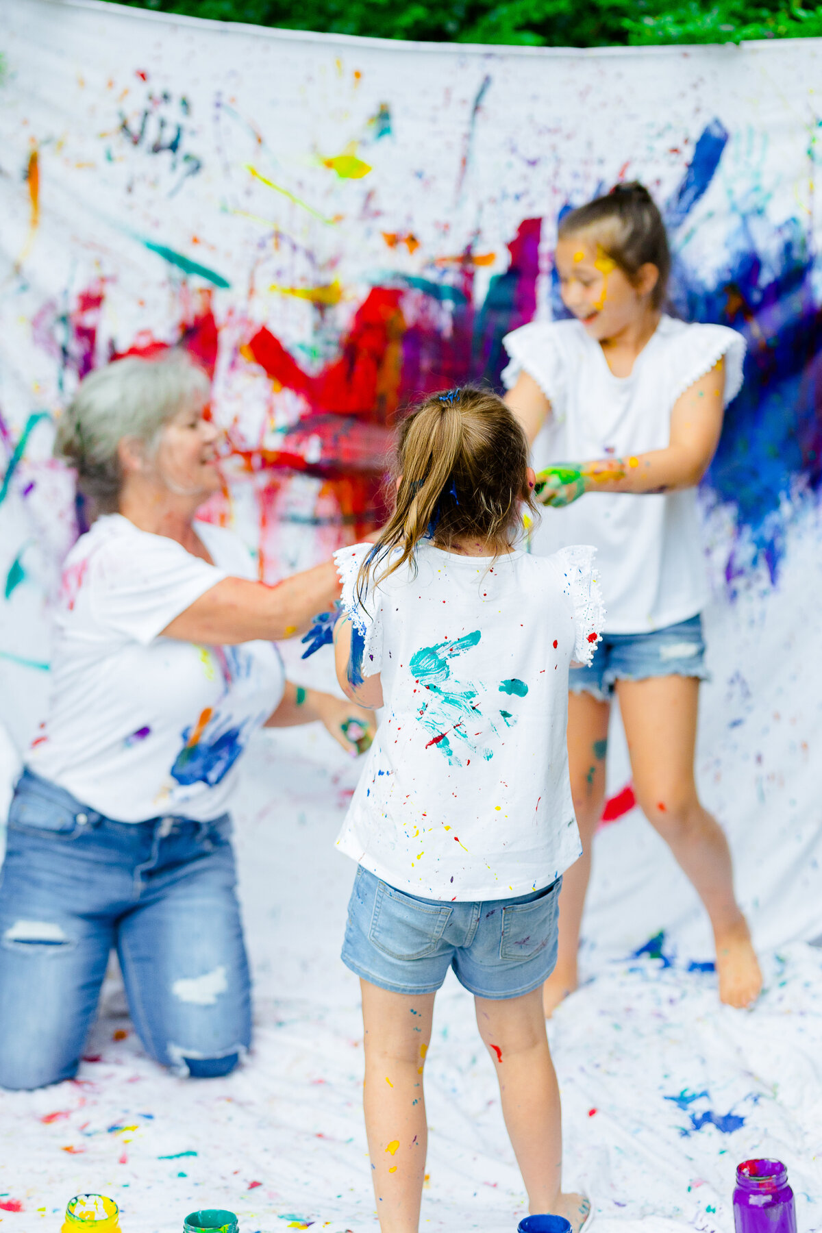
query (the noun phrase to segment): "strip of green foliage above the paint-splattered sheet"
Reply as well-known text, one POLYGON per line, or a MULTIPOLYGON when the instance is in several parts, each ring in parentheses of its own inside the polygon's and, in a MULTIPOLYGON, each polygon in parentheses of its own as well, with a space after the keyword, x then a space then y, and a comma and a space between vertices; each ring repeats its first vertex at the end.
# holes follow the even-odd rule
MULTIPOLYGON (((121 0, 123 2, 123 0, 121 0)), ((822 36, 822 5, 785 0, 124 0, 134 7, 286 30, 535 47, 739 43, 822 36)))

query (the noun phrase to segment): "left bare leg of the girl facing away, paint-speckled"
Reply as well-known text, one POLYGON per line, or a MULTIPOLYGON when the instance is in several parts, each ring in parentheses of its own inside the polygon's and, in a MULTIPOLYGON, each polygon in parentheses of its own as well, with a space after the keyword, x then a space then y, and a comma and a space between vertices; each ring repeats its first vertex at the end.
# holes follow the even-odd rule
POLYGON ((417 1233, 428 1148, 423 1067, 434 994, 392 994, 367 980, 360 980, 360 988, 365 1128, 380 1228, 417 1233))

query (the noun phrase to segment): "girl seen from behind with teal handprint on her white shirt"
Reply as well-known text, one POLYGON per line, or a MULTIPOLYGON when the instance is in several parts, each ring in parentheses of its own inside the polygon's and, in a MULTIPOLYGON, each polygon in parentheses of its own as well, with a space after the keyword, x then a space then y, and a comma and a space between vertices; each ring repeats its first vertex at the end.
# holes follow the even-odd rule
POLYGON ((365 1118, 383 1233, 415 1233, 423 1070, 449 968, 476 999, 531 1212, 562 1194, 560 1094, 541 986, 562 874, 579 854, 568 666, 601 623, 593 550, 516 547, 534 472, 495 395, 454 390, 402 425, 397 503, 373 547, 336 554, 336 673, 386 708, 338 847, 359 868, 343 961, 362 985, 365 1118))

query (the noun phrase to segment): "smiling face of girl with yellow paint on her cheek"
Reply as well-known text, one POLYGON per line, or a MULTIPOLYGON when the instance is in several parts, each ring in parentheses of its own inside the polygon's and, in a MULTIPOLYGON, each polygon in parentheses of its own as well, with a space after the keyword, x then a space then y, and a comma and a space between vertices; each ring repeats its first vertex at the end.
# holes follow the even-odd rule
POLYGON ((614 338, 643 317, 658 277, 656 265, 643 265, 631 282, 589 234, 561 237, 555 260, 562 302, 592 338, 614 338))

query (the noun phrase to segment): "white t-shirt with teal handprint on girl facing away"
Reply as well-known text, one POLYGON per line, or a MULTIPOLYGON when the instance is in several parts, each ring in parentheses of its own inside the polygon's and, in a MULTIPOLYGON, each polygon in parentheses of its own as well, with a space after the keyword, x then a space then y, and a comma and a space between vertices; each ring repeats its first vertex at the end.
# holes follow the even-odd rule
MULTIPOLYGON (((334 554, 362 677, 385 711, 336 846, 424 899, 507 899, 580 853, 566 727, 568 665, 603 620, 594 550, 471 557, 429 543, 362 602, 370 545, 334 554)), ((377 568, 377 577, 382 567, 377 568)))

